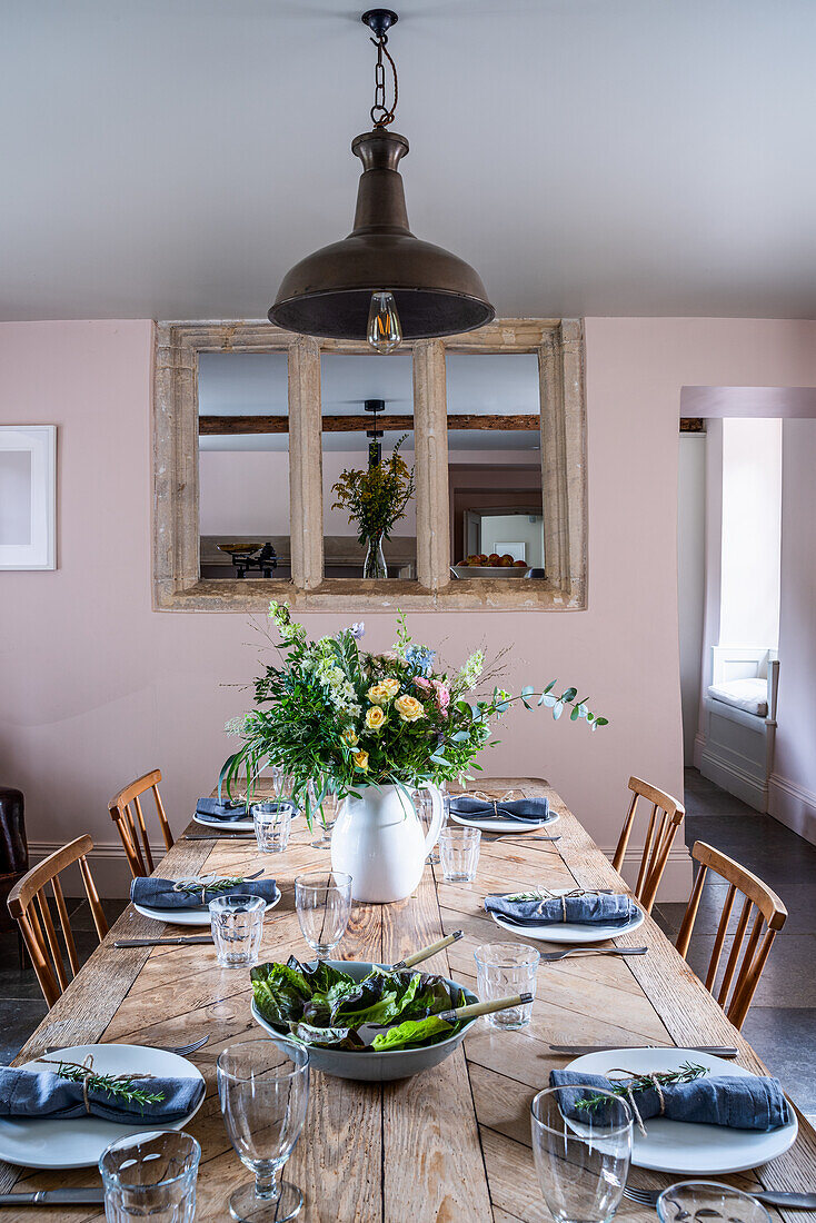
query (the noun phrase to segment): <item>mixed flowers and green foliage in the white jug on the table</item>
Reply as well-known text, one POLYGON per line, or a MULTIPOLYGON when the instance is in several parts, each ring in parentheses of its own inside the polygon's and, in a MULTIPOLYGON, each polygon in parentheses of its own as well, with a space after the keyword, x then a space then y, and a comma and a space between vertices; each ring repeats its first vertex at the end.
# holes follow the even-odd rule
POLYGON ((484 679, 482 651, 455 671, 434 670, 436 651, 411 640, 401 614, 396 641, 384 654, 361 647, 362 624, 308 641, 285 604, 270 603, 269 618, 281 662, 256 679, 256 708, 228 723, 242 742, 224 763, 221 784, 230 794, 241 780, 251 794, 259 773, 276 766, 294 779, 292 797, 310 827, 313 805, 322 808, 329 794, 360 797, 368 785, 407 793, 481 770, 476 757, 488 746, 491 723, 514 702, 530 709, 535 697, 557 719, 569 707, 573 722, 585 720, 593 730, 607 724, 577 698, 577 689, 558 696, 555 680, 541 692, 526 686, 513 697, 493 686, 475 698, 484 679))

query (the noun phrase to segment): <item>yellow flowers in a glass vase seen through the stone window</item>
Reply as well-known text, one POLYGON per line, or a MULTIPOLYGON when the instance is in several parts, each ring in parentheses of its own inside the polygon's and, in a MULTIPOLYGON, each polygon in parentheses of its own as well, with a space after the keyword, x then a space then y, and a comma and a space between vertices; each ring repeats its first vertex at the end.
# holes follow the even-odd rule
MULTIPOLYGON (((399 453, 407 434, 404 434, 390 459, 374 464, 367 471, 343 471, 332 492, 336 495, 333 510, 347 510, 349 522, 357 527, 357 539, 368 547, 376 558, 383 539, 400 519, 405 517, 407 503, 414 497, 414 471, 399 453)), ((388 576, 376 570, 363 577, 388 576)))

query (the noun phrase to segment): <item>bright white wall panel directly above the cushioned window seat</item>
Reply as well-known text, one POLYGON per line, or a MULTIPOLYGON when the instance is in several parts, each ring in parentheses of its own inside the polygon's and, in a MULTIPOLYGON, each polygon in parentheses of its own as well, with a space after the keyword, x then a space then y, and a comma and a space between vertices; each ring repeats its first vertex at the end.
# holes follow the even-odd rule
POLYGON ((721 646, 779 641, 782 421, 723 421, 721 646))

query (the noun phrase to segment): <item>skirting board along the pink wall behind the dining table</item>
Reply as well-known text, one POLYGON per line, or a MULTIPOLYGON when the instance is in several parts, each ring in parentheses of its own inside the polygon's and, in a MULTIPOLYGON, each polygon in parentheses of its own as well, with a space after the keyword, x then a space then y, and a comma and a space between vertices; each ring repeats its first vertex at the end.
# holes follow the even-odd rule
MULTIPOLYGON (((558 832, 558 826, 554 832, 558 832)), ((678 834, 678 841, 683 830, 680 829, 678 834)), ((35 862, 42 862, 44 857, 53 854, 55 849, 60 848, 59 841, 31 841, 28 845, 28 851, 31 855, 32 866, 35 862)), ((150 850, 153 852, 153 861, 159 863, 165 854, 164 841, 158 844, 150 844, 150 850)), ((614 845, 603 848, 603 852, 608 859, 614 855, 614 845)), ((630 887, 634 885, 637 878, 637 871, 640 868, 640 860, 644 850, 642 846, 630 845, 626 850, 624 857, 623 874, 630 887)), ((125 850, 122 849, 121 841, 98 841, 91 857, 91 872, 93 874, 93 881, 97 884, 97 889, 100 896, 105 899, 116 899, 121 896, 127 896, 130 894, 131 887, 131 872, 127 865, 127 859, 125 857, 125 850)), ((65 894, 69 896, 81 896, 82 882, 80 879, 80 872, 76 867, 69 867, 62 876, 65 894)), ((511 881, 508 881, 508 884, 511 881)), ((663 874, 663 881, 661 883, 659 892, 657 894, 658 903, 683 900, 689 899, 689 893, 691 892, 691 859, 686 846, 680 841, 675 841, 669 854, 669 860, 666 866, 666 872, 663 874)))

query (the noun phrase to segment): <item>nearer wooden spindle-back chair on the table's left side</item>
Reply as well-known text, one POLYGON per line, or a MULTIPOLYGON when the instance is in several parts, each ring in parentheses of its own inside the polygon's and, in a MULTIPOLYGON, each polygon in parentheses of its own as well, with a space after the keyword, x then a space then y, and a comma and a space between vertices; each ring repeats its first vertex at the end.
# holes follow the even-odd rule
POLYGON ((69 972, 62 960, 51 909, 45 894, 45 885, 51 884, 54 890, 54 903, 56 914, 62 927, 62 939, 69 958, 71 976, 80 971, 80 958, 77 956, 76 943, 69 921, 69 911, 65 905, 65 895, 60 883, 60 871, 66 866, 77 862, 82 874, 91 915, 97 927, 99 942, 108 933, 108 922, 102 910, 99 893, 91 874, 87 855, 93 849, 93 841, 88 835, 77 837, 76 840, 62 849, 55 850, 43 859, 37 866, 23 874, 22 879, 13 885, 9 893, 9 912, 20 926, 20 933, 31 955, 32 964, 40 988, 45 994, 45 1002, 53 1007, 56 999, 69 983, 69 972))

